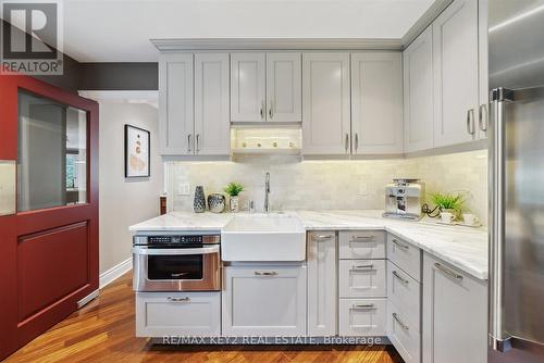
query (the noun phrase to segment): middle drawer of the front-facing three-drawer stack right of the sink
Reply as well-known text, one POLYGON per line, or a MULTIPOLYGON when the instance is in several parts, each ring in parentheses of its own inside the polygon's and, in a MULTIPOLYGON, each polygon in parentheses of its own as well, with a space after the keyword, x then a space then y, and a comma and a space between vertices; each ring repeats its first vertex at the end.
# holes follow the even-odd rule
POLYGON ((385 260, 341 260, 339 297, 385 297, 385 260))

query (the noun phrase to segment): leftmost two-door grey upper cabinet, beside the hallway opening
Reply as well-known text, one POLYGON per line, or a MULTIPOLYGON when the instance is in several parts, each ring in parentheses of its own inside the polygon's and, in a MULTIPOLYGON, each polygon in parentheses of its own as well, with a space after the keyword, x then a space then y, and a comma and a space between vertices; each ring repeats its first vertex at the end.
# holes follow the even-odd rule
POLYGON ((228 53, 161 54, 159 143, 164 155, 228 155, 228 53))

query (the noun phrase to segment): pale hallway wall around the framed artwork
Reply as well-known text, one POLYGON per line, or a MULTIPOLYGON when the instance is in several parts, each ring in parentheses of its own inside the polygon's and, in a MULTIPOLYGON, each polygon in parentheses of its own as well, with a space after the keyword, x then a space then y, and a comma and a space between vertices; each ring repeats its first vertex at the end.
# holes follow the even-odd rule
POLYGON ((157 109, 145 103, 100 101, 100 273, 132 256, 128 226, 159 214, 162 161, 157 109), (124 125, 151 133, 151 176, 125 179, 124 125))

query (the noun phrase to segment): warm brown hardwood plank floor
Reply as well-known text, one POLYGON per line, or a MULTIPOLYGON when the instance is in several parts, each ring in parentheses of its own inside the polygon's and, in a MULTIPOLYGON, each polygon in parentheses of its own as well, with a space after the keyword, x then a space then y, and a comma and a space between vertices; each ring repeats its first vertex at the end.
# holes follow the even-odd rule
POLYGON ((391 346, 153 346, 134 328, 127 273, 5 362, 403 362, 391 346))

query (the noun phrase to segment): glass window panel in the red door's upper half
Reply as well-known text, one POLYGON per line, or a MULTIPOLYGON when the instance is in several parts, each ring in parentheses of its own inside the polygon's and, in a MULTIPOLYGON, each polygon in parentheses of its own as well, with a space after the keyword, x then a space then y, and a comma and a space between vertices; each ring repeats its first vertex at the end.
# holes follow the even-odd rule
POLYGON ((87 202, 87 113, 18 91, 17 211, 87 202))

